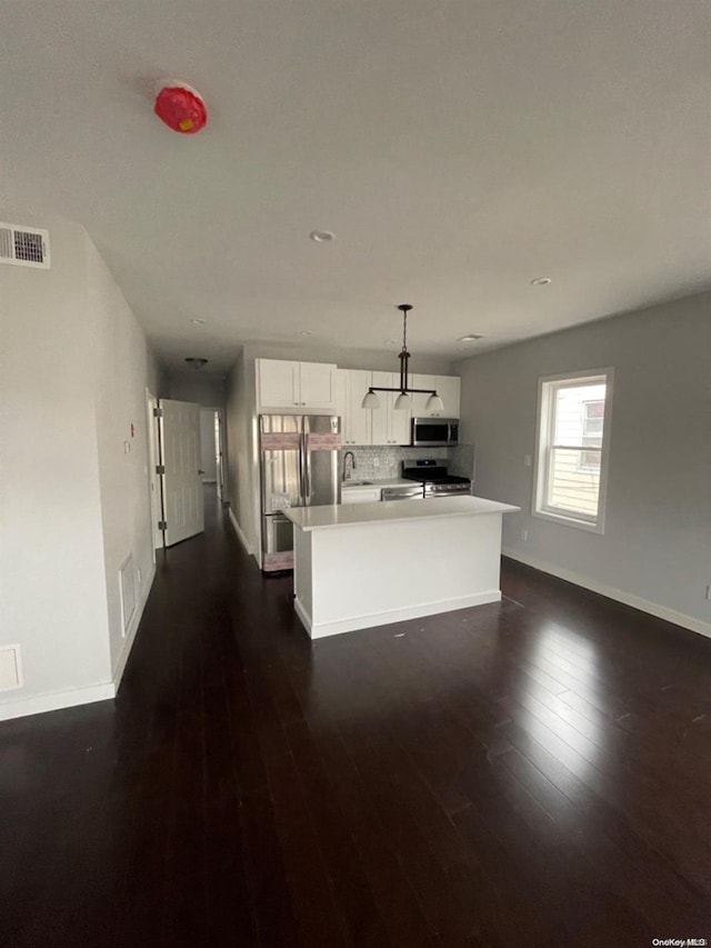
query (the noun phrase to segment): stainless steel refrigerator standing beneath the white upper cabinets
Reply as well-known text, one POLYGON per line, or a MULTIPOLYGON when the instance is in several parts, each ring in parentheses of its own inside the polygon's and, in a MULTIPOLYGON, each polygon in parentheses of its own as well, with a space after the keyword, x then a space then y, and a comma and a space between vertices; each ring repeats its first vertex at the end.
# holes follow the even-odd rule
POLYGON ((293 568, 293 528, 283 510, 341 502, 334 415, 260 415, 262 570, 293 568))

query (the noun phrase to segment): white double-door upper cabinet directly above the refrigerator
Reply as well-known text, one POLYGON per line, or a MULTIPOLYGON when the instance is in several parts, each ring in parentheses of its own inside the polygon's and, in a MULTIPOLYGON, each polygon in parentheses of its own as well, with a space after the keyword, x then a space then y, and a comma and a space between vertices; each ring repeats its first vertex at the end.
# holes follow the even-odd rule
POLYGON ((336 411, 336 366, 281 359, 257 359, 256 362, 259 411, 336 411))

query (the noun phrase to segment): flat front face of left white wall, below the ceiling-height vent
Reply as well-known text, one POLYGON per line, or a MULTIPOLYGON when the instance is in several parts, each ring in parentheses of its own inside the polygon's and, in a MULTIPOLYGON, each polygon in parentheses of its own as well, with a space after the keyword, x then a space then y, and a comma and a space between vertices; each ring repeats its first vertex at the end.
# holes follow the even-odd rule
POLYGON ((0 267, 0 645, 24 670, 0 714, 111 680, 84 231, 53 224, 51 253, 51 270, 0 267))

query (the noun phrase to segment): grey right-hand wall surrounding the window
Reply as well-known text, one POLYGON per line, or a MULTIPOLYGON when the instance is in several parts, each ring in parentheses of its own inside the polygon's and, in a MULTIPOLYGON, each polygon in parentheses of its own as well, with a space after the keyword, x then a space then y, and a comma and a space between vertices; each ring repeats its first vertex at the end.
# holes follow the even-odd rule
POLYGON ((459 363, 474 492, 520 505, 504 551, 711 633, 711 293, 459 363), (603 536, 531 516, 540 376, 614 368, 603 536), (528 540, 521 530, 528 530, 528 540))

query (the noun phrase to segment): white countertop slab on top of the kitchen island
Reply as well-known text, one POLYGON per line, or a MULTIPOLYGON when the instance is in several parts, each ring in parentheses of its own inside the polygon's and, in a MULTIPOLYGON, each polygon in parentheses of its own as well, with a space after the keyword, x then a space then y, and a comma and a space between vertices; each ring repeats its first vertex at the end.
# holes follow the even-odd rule
MULTIPOLYGON (((412 481, 405 481, 412 483, 412 481)), ((301 530, 353 527, 400 520, 471 517, 481 513, 514 513, 520 507, 485 500, 483 497, 438 497, 430 500, 385 500, 375 503, 339 503, 323 507, 292 507, 284 515, 301 530)))

